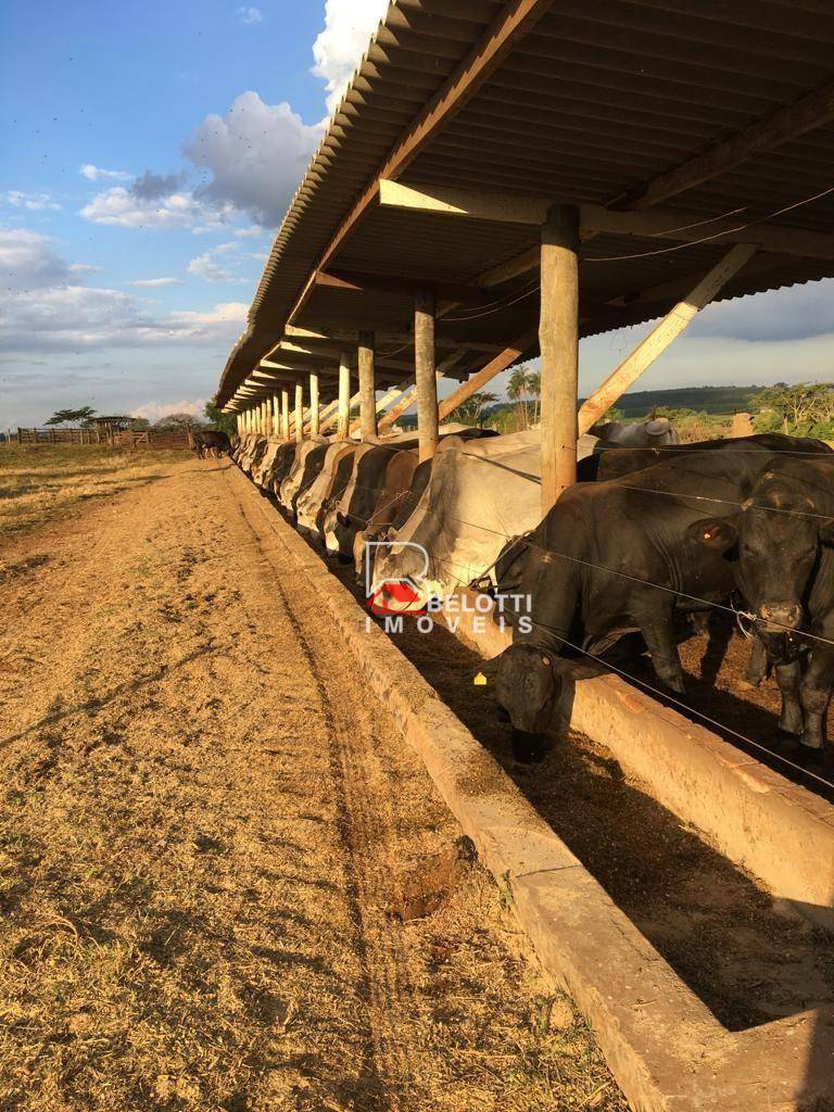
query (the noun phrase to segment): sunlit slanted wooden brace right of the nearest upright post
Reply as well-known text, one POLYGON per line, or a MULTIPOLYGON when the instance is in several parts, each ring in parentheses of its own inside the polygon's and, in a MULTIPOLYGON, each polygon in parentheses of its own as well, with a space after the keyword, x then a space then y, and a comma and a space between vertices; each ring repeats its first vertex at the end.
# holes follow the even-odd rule
MULTIPOLYGON (((736 275, 756 252, 752 244, 736 244, 706 274, 695 288, 678 301, 663 320, 642 340, 632 354, 612 371, 603 385, 579 409, 579 434, 587 433, 639 376, 663 355, 693 318, 708 305, 718 290, 736 275)), ((544 393, 543 393, 544 398, 544 393)))

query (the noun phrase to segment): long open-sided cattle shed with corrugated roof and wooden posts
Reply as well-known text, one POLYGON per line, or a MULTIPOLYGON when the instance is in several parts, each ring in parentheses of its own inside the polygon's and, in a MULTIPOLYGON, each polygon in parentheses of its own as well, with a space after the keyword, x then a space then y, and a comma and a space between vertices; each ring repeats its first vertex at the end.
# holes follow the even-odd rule
POLYGON ((347 437, 360 401, 368 437, 416 398, 427 458, 438 420, 540 354, 547 509, 577 433, 698 309, 834 275, 833 125, 820 0, 391 0, 218 404, 300 438, 347 437), (578 339, 657 318, 577 423, 578 339))

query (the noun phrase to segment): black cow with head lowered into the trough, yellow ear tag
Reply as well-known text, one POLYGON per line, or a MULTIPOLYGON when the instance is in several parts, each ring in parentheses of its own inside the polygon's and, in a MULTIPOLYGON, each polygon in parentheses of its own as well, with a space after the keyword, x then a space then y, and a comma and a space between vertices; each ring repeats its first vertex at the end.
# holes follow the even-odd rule
MULTIPOLYGON (((734 517, 780 456, 761 445, 675 454, 619 479, 566 490, 536 529, 504 554, 500 592, 529 600, 513 645, 487 666, 520 758, 539 756, 562 685, 625 633, 638 632, 658 678, 683 693, 676 612, 724 604, 736 583, 734 517), (705 508, 709 509, 708 516, 705 508), (612 528, 612 523, 616 527, 612 528), (729 558, 727 558, 729 557, 729 558)), ((593 668, 594 665, 590 665, 593 668)))

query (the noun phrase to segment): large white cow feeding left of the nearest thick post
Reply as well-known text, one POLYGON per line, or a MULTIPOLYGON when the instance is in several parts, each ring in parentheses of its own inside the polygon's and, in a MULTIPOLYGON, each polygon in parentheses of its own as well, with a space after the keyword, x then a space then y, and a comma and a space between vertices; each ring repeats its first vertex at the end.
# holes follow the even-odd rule
MULTIPOLYGON (((540 444, 540 430, 528 429, 445 446, 413 513, 391 533, 390 547, 378 550, 374 578, 423 578, 421 594, 428 598, 487 574, 507 538, 526 533, 539 518, 540 444)), ((595 444, 593 436, 580 437, 579 455, 590 455, 595 444)))

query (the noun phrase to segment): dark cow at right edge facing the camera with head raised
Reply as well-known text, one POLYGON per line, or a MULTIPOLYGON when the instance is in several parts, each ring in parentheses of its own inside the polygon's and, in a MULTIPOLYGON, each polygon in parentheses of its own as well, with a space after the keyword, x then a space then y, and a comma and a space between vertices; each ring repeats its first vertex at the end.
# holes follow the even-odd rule
POLYGON ((834 457, 772 458, 723 528, 733 532, 736 586, 775 667, 780 728, 818 757, 834 687, 834 457))

